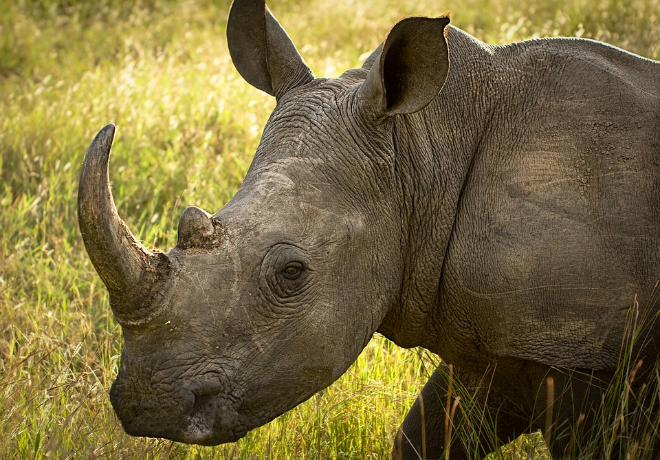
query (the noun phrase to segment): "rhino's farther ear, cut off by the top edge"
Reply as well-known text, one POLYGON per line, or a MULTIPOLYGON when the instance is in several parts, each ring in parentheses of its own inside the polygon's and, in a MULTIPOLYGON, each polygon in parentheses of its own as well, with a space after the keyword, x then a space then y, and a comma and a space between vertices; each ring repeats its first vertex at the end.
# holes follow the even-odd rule
POLYGON ((234 0, 227 21, 232 61, 250 85, 281 98, 314 79, 264 0, 234 0))

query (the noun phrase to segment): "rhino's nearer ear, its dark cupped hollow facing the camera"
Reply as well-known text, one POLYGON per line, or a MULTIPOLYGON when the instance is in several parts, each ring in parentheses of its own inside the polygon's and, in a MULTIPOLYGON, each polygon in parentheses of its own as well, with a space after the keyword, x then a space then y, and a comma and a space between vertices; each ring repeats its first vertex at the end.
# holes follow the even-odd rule
POLYGON ((414 17, 394 26, 360 87, 369 111, 375 116, 413 113, 437 96, 449 72, 448 24, 446 17, 414 17))

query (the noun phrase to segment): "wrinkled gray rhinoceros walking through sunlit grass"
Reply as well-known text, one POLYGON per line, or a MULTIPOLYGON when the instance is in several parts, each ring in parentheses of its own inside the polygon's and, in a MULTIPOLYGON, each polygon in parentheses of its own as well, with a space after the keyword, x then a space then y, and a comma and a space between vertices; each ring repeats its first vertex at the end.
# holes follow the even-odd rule
MULTIPOLYGON (((212 216, 186 209, 166 254, 118 217, 114 127, 100 131, 79 219, 124 334, 110 398, 126 432, 236 441, 331 384, 379 331, 467 386, 486 375, 500 441, 542 428, 561 457, 556 427, 599 397, 571 370, 607 379, 635 296, 642 317, 657 311, 660 63, 577 39, 489 46, 448 22, 405 19, 329 80, 263 1, 234 2, 236 68, 277 105, 238 193, 212 216), (570 396, 552 435, 548 375, 570 396)), ((653 322, 645 332, 657 340, 653 322)), ((657 360, 652 343, 639 353, 657 360)), ((447 388, 434 375, 424 391, 439 457, 447 388)), ((421 452, 416 410, 395 458, 421 452)))

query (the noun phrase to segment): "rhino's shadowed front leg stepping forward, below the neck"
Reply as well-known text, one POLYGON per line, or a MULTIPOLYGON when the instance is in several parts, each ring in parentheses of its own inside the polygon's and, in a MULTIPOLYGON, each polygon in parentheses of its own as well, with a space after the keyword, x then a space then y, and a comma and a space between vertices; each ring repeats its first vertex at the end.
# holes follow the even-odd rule
POLYGON ((487 379, 455 368, 450 373, 448 366, 441 365, 399 427, 393 459, 445 459, 445 435, 451 439, 450 459, 483 457, 529 431, 529 419, 488 388, 487 379), (459 403, 456 397, 460 397, 459 403), (445 426, 451 426, 450 433, 445 426), (495 433, 492 427, 496 427, 495 433))

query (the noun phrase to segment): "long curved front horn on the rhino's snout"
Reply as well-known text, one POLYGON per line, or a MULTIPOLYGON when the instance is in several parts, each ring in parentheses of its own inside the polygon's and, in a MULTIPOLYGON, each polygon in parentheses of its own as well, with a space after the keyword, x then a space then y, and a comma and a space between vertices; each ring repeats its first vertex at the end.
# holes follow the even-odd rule
MULTIPOLYGON (((108 288, 113 309, 116 305, 126 311, 135 310, 136 302, 142 304, 140 299, 145 296, 140 286, 154 287, 153 278, 162 276, 167 256, 146 250, 117 213, 108 173, 114 133, 114 124, 108 124, 87 149, 78 186, 78 224, 89 259, 108 288), (147 279, 151 283, 147 284, 147 279)), ((153 298, 153 293, 147 296, 153 298)))

